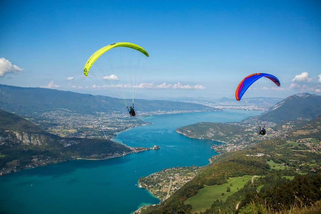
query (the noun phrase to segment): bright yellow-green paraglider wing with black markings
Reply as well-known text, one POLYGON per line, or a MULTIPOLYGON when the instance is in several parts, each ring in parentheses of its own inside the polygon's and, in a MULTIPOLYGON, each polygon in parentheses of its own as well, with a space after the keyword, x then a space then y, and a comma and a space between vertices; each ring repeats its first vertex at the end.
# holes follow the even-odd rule
POLYGON ((142 52, 145 56, 149 56, 147 51, 138 46, 138 45, 135 45, 133 43, 129 43, 129 42, 117 42, 117 43, 113 43, 111 45, 108 45, 108 46, 105 46, 105 47, 102 47, 100 48, 98 51, 96 51, 93 55, 91 55, 91 57, 87 60, 86 64, 85 64, 85 67, 83 68, 83 73, 85 74, 85 76, 88 75, 88 71, 91 67, 91 65, 103 54, 105 53, 106 51, 110 50, 111 48, 113 47, 129 47, 129 48, 133 48, 135 50, 138 50, 140 52, 142 52))

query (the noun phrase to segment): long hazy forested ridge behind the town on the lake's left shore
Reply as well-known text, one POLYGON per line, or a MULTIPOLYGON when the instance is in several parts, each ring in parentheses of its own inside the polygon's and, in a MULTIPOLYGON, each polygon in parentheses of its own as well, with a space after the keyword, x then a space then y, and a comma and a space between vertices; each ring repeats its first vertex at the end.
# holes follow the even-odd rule
MULTIPOLYGON (((131 100, 127 101, 128 105, 131 100)), ((3 110, 16 112, 19 115, 32 115, 48 112, 55 109, 68 109, 69 111, 93 115, 96 112, 124 111, 126 106, 117 98, 108 96, 94 96, 71 91, 61 91, 45 88, 22 88, 9 85, 0 85, 0 105, 3 110)), ((208 107, 195 103, 173 102, 163 100, 135 99, 135 108, 139 111, 221 111, 221 109, 208 107)))

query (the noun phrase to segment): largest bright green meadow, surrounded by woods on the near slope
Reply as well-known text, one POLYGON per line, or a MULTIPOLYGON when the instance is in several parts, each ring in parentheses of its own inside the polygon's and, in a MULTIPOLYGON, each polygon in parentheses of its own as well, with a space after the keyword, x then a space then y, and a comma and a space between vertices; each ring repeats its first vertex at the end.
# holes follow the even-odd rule
POLYGON ((210 208, 216 199, 225 201, 229 195, 241 189, 247 181, 252 180, 251 175, 244 175, 243 177, 234 177, 227 180, 227 184, 207 186, 204 185, 203 189, 198 190, 197 194, 184 201, 184 204, 192 205, 191 213, 205 211, 210 208), (244 181, 243 181, 244 180, 244 181), (230 186, 232 184, 232 186, 230 186), (227 193, 227 187, 231 188, 231 192, 227 193), (224 195, 222 196, 222 193, 224 195))

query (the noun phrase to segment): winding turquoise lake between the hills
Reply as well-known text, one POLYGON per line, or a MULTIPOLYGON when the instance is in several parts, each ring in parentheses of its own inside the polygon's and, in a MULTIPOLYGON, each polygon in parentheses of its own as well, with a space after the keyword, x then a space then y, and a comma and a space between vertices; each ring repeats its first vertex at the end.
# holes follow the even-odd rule
POLYGON ((125 213, 160 201, 136 184, 140 177, 175 166, 204 166, 220 142, 191 139, 176 128, 197 122, 240 121, 244 110, 157 115, 153 124, 119 133, 115 141, 153 147, 106 160, 72 160, 0 177, 0 213, 125 213))

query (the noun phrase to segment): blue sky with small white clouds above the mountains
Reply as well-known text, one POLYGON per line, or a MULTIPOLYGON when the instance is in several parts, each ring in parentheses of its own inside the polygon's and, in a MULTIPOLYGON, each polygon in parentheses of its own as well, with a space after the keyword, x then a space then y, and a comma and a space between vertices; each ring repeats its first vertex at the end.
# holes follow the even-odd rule
POLYGON ((251 73, 277 76, 277 97, 321 95, 320 1, 6 1, 0 11, 1 84, 109 96, 83 66, 126 41, 150 54, 137 97, 233 98, 251 73), (164 82, 181 88, 156 88, 164 82))

